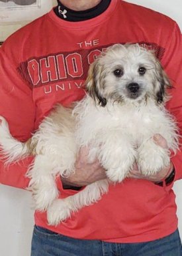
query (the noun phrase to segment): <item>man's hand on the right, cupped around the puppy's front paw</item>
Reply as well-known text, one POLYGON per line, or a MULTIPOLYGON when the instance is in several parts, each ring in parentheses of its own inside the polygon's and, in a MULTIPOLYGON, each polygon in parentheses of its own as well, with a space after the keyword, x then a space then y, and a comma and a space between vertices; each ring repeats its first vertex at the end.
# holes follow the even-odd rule
MULTIPOLYGON (((154 142, 161 146, 161 148, 168 148, 165 138, 163 138, 160 134, 156 134, 154 136, 154 142)), ((129 178, 150 180, 151 182, 161 182, 162 180, 167 178, 169 174, 171 174, 172 170, 173 164, 170 162, 169 166, 163 168, 163 170, 158 172, 158 174, 144 176, 143 174, 140 174, 137 164, 134 164, 133 170, 130 172, 129 178)))

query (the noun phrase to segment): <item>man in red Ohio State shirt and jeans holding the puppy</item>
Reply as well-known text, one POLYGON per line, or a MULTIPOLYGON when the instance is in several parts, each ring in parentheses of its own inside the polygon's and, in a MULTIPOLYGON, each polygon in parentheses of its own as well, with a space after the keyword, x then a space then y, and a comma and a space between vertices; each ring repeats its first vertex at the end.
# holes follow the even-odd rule
MULTIPOLYGON (((26 140, 56 103, 69 106, 80 100, 89 64, 110 45, 128 42, 156 51, 173 82, 167 108, 181 127, 182 50, 177 24, 121 0, 62 0, 1 48, 0 114, 7 118, 13 136, 26 140)), ((167 148, 159 134, 154 140, 167 148)), ((98 162, 87 163, 87 152, 81 149, 75 175, 58 178, 60 196, 105 177, 98 162)), ((46 213, 37 211, 32 256, 182 255, 171 190, 182 176, 181 160, 179 151, 169 166, 148 178, 134 166, 130 179, 111 185, 98 203, 83 207, 56 227, 48 226, 46 213)), ((31 161, 30 157, 8 170, 1 163, 0 182, 26 188, 24 174, 31 161)))

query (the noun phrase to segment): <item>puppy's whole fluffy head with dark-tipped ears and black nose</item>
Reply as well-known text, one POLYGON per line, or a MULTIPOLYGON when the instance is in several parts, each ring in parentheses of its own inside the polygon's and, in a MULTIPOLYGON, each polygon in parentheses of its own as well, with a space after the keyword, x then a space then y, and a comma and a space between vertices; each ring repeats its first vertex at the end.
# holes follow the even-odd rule
POLYGON ((139 45, 114 45, 89 68, 89 94, 102 106, 108 100, 134 102, 154 98, 159 104, 170 86, 161 64, 139 45))

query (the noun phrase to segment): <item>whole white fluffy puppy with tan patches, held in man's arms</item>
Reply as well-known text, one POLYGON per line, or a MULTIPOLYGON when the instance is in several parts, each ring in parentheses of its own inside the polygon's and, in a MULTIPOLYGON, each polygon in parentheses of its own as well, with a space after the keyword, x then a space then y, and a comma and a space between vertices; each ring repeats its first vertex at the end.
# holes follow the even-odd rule
POLYGON ((169 150, 177 149, 178 135, 164 107, 167 87, 169 80, 152 52, 138 44, 114 45, 91 64, 83 100, 73 110, 57 106, 27 142, 15 140, 1 117, 1 152, 7 163, 35 156, 29 187, 35 208, 47 210, 50 225, 100 199, 109 182, 128 176, 134 162, 146 175, 169 164, 169 150), (154 143, 154 134, 167 140, 169 150, 154 143), (58 199, 55 178, 75 172, 81 146, 89 146, 89 160, 98 158, 108 179, 58 199))

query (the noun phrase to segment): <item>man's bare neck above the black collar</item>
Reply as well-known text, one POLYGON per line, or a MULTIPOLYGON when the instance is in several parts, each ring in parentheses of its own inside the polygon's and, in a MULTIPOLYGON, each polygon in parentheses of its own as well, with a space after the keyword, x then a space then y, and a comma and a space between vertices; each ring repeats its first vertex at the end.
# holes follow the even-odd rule
POLYGON ((98 5, 101 0, 60 0, 67 8, 74 11, 85 11, 98 5))

